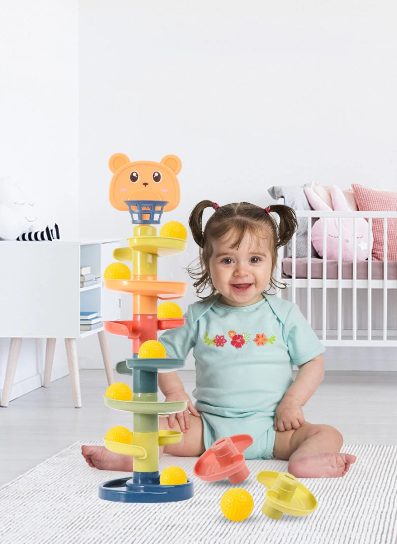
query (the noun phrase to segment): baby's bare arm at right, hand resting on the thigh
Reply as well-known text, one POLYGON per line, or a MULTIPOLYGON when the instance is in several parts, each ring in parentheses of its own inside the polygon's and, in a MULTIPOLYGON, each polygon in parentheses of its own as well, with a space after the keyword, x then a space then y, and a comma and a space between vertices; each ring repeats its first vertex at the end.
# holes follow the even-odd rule
POLYGON ((295 381, 284 394, 281 403, 277 406, 274 419, 274 428, 278 431, 299 429, 305 418, 304 406, 324 378, 324 359, 322 355, 302 364, 295 381))

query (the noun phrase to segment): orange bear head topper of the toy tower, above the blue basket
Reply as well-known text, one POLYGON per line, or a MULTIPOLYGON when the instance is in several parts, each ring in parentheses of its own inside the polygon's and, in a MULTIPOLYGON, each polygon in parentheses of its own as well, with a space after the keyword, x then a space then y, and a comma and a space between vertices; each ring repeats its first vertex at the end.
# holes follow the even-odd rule
POLYGON ((114 208, 128 211, 126 200, 168 201, 164 212, 178 206, 181 194, 177 174, 182 162, 176 155, 166 155, 160 162, 131 162, 127 155, 115 153, 109 159, 109 168, 113 172, 109 200, 114 208))

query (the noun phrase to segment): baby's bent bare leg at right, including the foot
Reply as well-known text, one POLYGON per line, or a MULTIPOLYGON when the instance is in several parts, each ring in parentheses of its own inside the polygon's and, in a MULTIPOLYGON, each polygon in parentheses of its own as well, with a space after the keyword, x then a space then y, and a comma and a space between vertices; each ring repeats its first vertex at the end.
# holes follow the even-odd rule
POLYGON ((289 459, 288 472, 297 478, 344 476, 355 455, 339 453, 343 436, 330 425, 305 423, 299 429, 276 431, 273 453, 289 459))

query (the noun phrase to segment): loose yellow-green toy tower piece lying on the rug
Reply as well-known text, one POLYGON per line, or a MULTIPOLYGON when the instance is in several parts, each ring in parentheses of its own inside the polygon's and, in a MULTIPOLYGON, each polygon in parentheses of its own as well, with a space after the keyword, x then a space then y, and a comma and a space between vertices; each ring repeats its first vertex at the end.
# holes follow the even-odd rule
POLYGON ((268 488, 262 512, 272 520, 283 514, 308 516, 317 508, 314 495, 288 472, 261 471, 256 479, 268 488))

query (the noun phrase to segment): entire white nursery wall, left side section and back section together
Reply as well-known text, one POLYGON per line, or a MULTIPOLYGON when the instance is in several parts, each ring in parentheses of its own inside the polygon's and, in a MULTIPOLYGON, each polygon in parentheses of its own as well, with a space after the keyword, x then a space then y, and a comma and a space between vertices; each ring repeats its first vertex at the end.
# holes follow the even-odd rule
MULTIPOLYGON (((65 240, 131 234, 107 197, 117 151, 181 157, 166 219, 184 224, 201 199, 266 205, 273 184, 395 186, 393 0, 20 0, 2 17, 0 175, 34 193, 65 240)), ((196 254, 189 238, 160 277, 188 281, 196 254)), ((182 307, 193 300, 189 287, 182 307)), ((92 342, 83 366, 101 365, 92 342)), ((23 344, 21 381, 40 372, 41 343, 23 344)))

